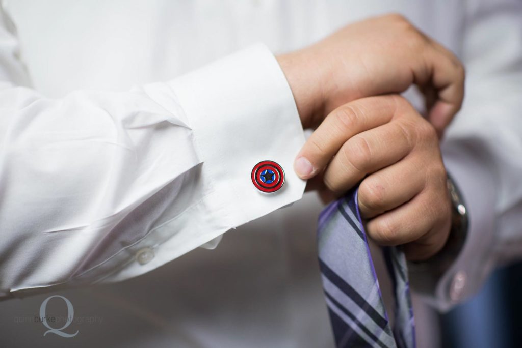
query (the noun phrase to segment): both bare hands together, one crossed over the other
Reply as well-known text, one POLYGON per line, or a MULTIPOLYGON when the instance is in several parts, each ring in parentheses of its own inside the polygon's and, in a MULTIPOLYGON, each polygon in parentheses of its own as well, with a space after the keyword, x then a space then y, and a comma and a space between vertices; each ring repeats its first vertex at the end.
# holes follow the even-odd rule
POLYGON ((325 201, 357 183, 366 232, 422 260, 447 240, 451 205, 438 139, 460 109, 464 68, 404 17, 350 24, 277 57, 303 128, 294 163, 325 201), (426 118, 397 95, 416 84, 426 118))

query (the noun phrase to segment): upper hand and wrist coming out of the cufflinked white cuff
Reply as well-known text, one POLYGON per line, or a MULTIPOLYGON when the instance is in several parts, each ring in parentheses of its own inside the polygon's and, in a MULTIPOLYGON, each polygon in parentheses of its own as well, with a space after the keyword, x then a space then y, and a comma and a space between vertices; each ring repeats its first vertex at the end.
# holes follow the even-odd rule
POLYGON ((464 95, 460 61, 400 15, 350 24, 278 61, 304 128, 315 128, 342 104, 400 93, 414 83, 425 95, 428 120, 442 136, 464 95))

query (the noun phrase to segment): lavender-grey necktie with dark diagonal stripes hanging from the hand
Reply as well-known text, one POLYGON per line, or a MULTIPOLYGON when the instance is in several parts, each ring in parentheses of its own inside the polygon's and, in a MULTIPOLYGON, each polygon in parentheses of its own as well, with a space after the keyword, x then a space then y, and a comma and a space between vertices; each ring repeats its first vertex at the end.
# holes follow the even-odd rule
POLYGON ((319 216, 319 268, 337 347, 415 346, 406 258, 399 247, 383 249, 395 294, 392 329, 364 232, 357 189, 319 216))

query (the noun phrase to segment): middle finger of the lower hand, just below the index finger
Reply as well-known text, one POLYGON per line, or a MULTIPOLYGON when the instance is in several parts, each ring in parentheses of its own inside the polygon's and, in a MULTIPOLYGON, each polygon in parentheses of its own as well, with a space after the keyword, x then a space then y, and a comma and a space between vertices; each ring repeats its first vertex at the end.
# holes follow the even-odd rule
POLYGON ((396 163, 412 147, 413 141, 399 121, 357 134, 345 142, 331 160, 324 173, 325 184, 340 195, 367 174, 396 163))

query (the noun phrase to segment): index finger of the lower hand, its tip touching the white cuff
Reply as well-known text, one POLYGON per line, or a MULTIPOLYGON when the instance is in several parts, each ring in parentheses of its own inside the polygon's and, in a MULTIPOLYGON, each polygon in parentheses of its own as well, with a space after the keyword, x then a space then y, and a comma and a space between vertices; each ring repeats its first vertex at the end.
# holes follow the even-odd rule
POLYGON ((294 162, 295 172, 303 179, 314 177, 348 139, 389 122, 396 109, 394 96, 363 98, 335 109, 303 145, 294 162))

